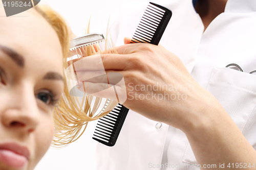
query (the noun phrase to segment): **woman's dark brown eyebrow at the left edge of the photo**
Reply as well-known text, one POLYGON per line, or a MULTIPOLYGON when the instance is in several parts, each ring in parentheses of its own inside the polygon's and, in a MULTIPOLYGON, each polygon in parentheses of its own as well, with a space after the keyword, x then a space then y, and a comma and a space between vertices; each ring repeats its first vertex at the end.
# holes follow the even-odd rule
POLYGON ((12 50, 11 48, 3 45, 0 45, 0 50, 4 52, 6 55, 8 55, 18 66, 24 67, 25 59, 22 55, 19 55, 17 52, 12 50))

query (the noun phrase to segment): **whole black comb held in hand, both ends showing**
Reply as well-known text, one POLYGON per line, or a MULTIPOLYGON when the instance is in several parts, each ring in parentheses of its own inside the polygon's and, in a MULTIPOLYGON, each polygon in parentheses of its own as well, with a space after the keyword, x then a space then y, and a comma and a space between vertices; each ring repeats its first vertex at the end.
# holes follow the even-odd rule
MULTIPOLYGON (((131 43, 151 43, 158 45, 172 16, 172 11, 155 3, 148 5, 131 43)), ((106 104, 108 105, 108 103, 106 104)), ((93 139, 113 147, 123 126, 129 109, 118 104, 114 110, 100 118, 93 139)))

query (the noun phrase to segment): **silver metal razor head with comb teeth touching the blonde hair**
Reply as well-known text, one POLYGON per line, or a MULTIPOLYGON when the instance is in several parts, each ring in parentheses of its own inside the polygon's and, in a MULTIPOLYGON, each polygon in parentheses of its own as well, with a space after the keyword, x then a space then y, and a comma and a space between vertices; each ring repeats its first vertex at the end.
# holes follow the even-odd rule
POLYGON ((83 46, 93 45, 95 43, 99 43, 105 41, 103 34, 100 33, 91 33, 87 35, 83 35, 80 37, 76 37, 70 41, 70 50, 75 50, 83 46))

